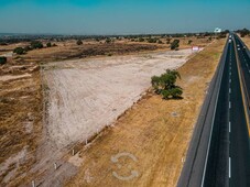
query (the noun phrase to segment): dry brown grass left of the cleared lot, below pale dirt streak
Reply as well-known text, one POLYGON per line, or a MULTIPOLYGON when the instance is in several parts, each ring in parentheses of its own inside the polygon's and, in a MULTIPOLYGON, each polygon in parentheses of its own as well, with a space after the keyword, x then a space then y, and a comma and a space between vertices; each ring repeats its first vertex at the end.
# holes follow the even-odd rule
POLYGON ((42 131, 40 85, 39 72, 31 77, 0 81, 0 186, 6 186, 9 179, 3 179, 11 172, 8 178, 18 180, 35 161, 30 153, 35 152, 42 131), (13 157, 22 151, 25 155, 20 163, 13 157))

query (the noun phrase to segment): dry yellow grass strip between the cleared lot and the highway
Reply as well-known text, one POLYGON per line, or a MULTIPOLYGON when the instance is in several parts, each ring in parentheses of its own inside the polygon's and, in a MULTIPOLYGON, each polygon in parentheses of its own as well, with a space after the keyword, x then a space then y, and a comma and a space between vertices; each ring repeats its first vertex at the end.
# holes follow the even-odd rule
POLYGON ((66 186, 176 186, 188 142, 205 91, 210 81, 225 40, 216 41, 180 68, 184 99, 162 100, 148 94, 128 110, 113 128, 108 128, 88 148, 80 148, 79 173, 66 186), (130 153, 138 162, 121 157, 130 153), (128 176, 132 169, 139 176, 120 180, 112 175, 128 176))

